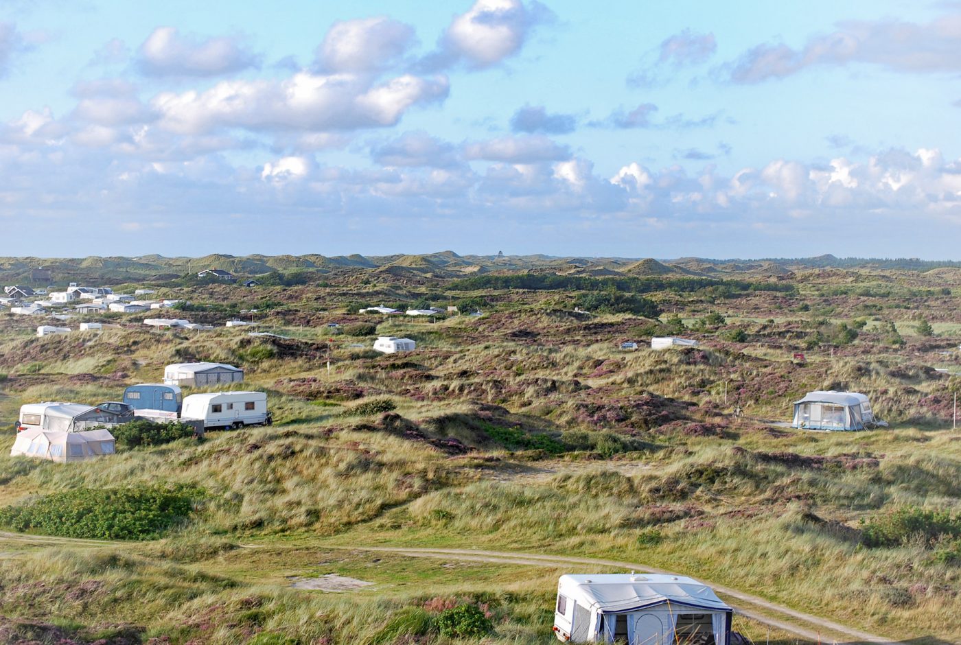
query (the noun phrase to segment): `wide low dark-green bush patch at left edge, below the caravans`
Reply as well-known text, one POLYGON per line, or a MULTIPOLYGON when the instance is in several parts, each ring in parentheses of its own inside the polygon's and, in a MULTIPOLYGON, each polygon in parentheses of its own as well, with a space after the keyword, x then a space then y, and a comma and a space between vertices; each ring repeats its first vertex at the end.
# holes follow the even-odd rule
POLYGON ((184 484, 74 488, 0 509, 0 526, 88 539, 142 540, 183 522, 203 491, 184 484))

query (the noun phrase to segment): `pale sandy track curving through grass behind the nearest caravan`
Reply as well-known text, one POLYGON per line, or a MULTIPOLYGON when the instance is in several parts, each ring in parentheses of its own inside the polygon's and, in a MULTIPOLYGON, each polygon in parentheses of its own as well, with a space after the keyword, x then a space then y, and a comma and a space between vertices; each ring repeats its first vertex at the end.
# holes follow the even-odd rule
MULTIPOLYGON (((620 567, 623 569, 640 571, 643 573, 671 574, 673 572, 663 569, 640 564, 637 562, 621 562, 618 560, 599 559, 599 558, 567 558, 560 556, 544 556, 540 554, 529 554, 513 551, 475 551, 473 549, 415 549, 403 547, 364 547, 353 545, 342 547, 356 549, 360 551, 382 551, 400 554, 411 558, 445 558, 463 559, 468 561, 482 561, 503 564, 527 564, 532 566, 556 567, 563 564, 595 564, 602 566, 620 567)), ((732 589, 720 584, 710 583, 702 580, 703 583, 711 586, 717 593, 726 597, 727 603, 736 609, 738 613, 764 625, 770 625, 778 630, 793 633, 801 638, 816 642, 825 642, 828 639, 841 637, 852 638, 854 643, 895 643, 889 638, 883 638, 873 633, 854 630, 845 625, 835 623, 825 618, 797 611, 792 608, 784 607, 757 596, 732 589), (731 601, 731 599, 736 599, 731 601), (773 614, 773 615, 772 615, 773 614), (790 622, 793 621, 793 622, 790 622), (798 625, 797 623, 801 623, 798 625)))

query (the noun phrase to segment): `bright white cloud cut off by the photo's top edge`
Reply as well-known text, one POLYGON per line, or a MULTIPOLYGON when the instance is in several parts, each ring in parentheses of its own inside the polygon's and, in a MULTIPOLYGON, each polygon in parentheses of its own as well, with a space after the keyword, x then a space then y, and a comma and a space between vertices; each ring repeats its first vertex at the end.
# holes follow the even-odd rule
POLYGON ((466 62, 476 69, 496 65, 520 52, 536 26, 553 19, 554 13, 538 2, 477 0, 467 12, 454 17, 440 38, 438 51, 422 64, 443 68, 466 62))

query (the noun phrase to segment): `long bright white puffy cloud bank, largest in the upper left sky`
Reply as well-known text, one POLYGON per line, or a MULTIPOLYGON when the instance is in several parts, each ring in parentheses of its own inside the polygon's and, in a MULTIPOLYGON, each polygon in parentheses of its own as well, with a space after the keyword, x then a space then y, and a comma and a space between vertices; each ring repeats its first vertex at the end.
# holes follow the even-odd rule
POLYGON ((281 81, 221 81, 204 92, 163 92, 151 107, 172 132, 218 128, 351 130, 396 125, 404 112, 447 97, 445 76, 411 75, 373 83, 355 74, 300 72, 281 81))

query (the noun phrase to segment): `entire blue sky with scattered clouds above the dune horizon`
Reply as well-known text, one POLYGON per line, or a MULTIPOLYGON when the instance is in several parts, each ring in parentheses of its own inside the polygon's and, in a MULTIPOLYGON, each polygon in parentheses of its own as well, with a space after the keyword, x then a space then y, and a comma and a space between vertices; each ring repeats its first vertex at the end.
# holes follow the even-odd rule
POLYGON ((961 260, 961 3, 0 0, 0 255, 961 260))

